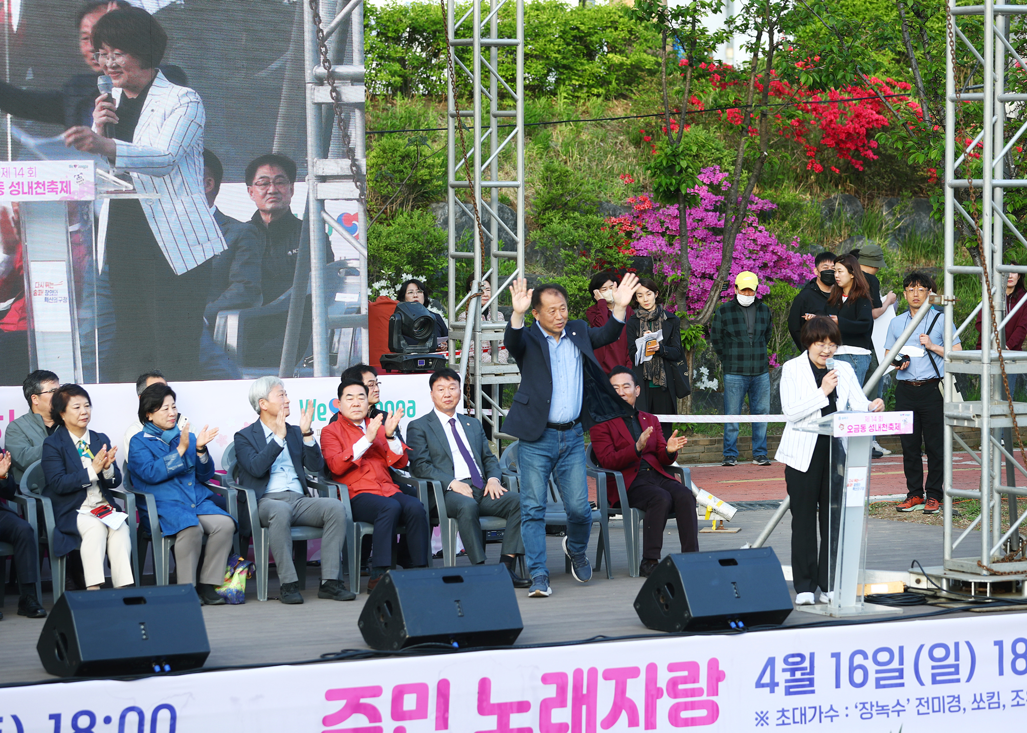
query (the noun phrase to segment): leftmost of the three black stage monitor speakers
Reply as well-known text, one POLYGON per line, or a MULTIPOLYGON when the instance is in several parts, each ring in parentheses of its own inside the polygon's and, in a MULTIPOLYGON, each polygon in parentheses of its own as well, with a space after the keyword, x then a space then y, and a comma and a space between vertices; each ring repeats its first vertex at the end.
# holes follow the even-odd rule
POLYGON ((211 645, 192 585, 70 590, 36 651, 50 674, 114 677, 195 669, 211 645))

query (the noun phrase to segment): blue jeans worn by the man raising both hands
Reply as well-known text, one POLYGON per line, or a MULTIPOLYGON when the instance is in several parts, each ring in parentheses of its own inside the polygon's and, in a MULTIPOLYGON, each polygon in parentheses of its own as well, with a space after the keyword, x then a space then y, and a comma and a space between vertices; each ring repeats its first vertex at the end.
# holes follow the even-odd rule
POLYGON ((578 423, 570 430, 546 428, 537 440, 518 442, 521 473, 521 538, 531 577, 548 575, 545 567, 545 505, 549 474, 567 512, 567 548, 572 553, 588 549, 592 507, 584 474, 584 431, 578 423))

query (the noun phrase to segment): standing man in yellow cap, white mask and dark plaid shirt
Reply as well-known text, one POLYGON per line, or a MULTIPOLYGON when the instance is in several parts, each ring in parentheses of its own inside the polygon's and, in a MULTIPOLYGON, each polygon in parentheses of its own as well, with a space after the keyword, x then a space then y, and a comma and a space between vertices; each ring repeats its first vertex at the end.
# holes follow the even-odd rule
MULTIPOLYGON (((710 342, 724 369, 724 414, 741 414, 749 395, 749 414, 770 412, 770 373, 767 342, 770 340, 770 309, 756 299, 759 278, 739 272, 734 278, 734 298, 714 313, 710 342)), ((724 424, 724 462, 738 462, 738 423, 724 424)), ((753 423, 753 463, 769 466, 767 424, 753 423)))

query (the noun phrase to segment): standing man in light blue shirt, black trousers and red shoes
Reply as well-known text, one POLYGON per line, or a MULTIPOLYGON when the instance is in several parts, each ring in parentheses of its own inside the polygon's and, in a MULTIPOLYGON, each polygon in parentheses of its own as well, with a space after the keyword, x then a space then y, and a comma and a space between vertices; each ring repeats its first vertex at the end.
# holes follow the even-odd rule
MULTIPOLYGON (((937 514, 942 502, 942 440, 945 424, 944 400, 940 389, 945 376, 945 314, 935 310, 927 298, 935 281, 924 272, 911 272, 903 280, 903 295, 909 310, 891 319, 885 347, 891 349, 921 307, 928 312, 898 354, 891 354, 896 377, 896 410, 913 413, 913 432, 900 435, 903 470, 906 473, 906 500, 897 511, 913 511, 922 506, 924 514, 937 514), (924 501, 923 462, 920 447, 927 454, 927 498, 924 501)), ((953 339, 953 351, 961 351, 959 337, 953 339)))

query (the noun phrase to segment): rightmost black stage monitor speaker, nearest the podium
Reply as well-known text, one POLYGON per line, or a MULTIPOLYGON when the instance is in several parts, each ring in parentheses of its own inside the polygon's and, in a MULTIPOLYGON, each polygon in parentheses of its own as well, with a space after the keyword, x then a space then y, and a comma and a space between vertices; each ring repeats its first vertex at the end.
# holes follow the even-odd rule
POLYGON ((668 555, 635 599, 639 619, 659 631, 779 624, 792 608, 770 547, 668 555))

